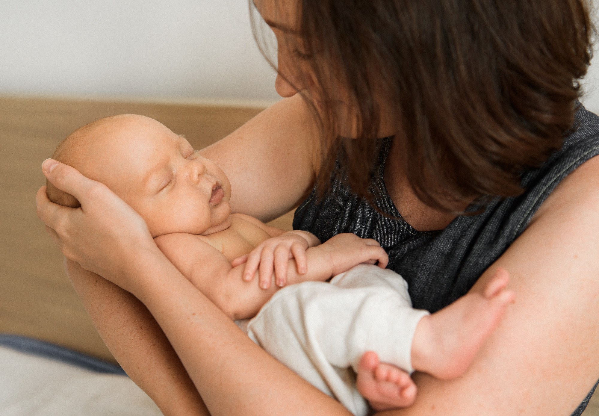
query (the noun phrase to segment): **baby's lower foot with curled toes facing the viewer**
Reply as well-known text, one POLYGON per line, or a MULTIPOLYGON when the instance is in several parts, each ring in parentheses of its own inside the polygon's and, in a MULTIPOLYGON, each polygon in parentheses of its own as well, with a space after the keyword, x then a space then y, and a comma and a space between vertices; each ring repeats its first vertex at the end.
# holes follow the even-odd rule
POLYGON ((406 408, 416 400, 416 384, 408 373, 380 363, 372 351, 362 355, 356 387, 375 410, 406 408))

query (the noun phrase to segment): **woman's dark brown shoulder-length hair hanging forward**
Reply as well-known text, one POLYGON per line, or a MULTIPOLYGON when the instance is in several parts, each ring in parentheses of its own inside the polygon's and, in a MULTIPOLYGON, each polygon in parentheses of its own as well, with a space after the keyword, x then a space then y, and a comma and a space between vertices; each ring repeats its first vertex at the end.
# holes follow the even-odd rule
POLYGON ((308 100, 323 134, 319 189, 341 150, 352 191, 371 198, 383 117, 416 195, 447 211, 520 194, 521 173, 573 128, 592 55, 585 0, 298 0, 298 16, 289 47, 321 100, 318 110, 308 100), (337 85, 355 140, 338 137, 337 85))

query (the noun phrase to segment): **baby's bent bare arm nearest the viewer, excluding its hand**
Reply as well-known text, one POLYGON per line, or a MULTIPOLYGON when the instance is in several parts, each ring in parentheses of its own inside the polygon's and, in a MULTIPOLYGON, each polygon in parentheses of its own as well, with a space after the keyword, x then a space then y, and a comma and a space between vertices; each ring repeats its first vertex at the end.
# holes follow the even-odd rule
MULTIPOLYGON (((244 264, 232 267, 217 249, 193 234, 167 234, 156 237, 156 244, 179 271, 231 319, 250 318, 278 290, 262 290, 255 282, 241 279, 244 264)), ((310 271, 299 275, 295 261, 289 261, 288 281, 325 281, 334 272, 331 255, 320 246, 306 251, 310 271)))

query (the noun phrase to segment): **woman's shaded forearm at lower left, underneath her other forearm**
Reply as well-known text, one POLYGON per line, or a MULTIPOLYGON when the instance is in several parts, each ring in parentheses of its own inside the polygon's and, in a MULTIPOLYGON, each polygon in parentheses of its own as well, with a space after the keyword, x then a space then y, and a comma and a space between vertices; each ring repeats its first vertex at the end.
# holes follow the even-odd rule
POLYGON ((66 260, 93 324, 131 379, 165 416, 208 416, 183 364, 147 308, 131 293, 66 260))

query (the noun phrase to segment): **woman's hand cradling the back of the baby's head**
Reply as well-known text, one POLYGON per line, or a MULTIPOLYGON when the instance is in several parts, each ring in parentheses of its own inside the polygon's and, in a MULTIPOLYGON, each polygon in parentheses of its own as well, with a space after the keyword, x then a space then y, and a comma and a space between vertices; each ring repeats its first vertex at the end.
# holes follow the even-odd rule
POLYGON ((144 220, 107 186, 71 166, 46 159, 42 170, 56 188, 81 203, 79 208, 55 204, 48 199, 46 186, 36 195, 38 217, 62 254, 131 291, 127 276, 135 268, 136 254, 158 251, 144 220))

